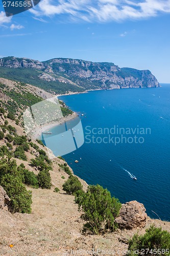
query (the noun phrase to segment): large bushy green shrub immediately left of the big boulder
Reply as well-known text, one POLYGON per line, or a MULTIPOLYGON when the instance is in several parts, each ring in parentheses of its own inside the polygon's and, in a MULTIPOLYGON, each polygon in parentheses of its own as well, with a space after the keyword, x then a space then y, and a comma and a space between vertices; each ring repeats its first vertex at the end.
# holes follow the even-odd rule
POLYGON ((79 210, 83 210, 82 219, 87 221, 84 232, 101 234, 115 230, 115 217, 118 216, 121 203, 112 198, 110 192, 100 185, 90 185, 84 195, 77 196, 79 210))

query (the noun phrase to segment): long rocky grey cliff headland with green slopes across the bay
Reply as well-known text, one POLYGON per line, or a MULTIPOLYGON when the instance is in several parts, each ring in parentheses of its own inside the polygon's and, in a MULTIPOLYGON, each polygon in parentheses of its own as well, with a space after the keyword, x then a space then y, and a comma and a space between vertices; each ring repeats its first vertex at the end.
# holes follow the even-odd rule
POLYGON ((22 81, 35 86, 40 86, 44 81, 45 86, 48 89, 53 88, 55 92, 60 91, 62 87, 64 92, 159 87, 157 79, 149 70, 119 68, 109 62, 98 63, 69 58, 55 58, 43 62, 16 57, 0 59, 0 76, 2 74, 4 77, 5 73, 5 78, 7 78, 10 69, 19 69, 22 81))

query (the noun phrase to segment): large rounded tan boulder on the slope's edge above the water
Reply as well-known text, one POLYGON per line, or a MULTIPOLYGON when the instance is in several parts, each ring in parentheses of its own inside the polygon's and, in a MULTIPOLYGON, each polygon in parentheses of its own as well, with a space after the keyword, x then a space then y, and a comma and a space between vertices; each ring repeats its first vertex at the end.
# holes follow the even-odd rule
POLYGON ((144 205, 130 201, 122 205, 119 216, 115 219, 120 229, 143 228, 147 220, 144 205))

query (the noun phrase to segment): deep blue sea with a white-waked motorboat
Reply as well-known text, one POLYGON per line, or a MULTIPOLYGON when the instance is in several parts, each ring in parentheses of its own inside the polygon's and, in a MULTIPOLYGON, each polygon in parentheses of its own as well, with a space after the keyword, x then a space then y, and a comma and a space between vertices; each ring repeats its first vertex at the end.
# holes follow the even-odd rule
POLYGON ((62 156, 74 173, 121 203, 144 204, 151 218, 170 221, 170 84, 59 98, 83 127, 83 145, 62 156))

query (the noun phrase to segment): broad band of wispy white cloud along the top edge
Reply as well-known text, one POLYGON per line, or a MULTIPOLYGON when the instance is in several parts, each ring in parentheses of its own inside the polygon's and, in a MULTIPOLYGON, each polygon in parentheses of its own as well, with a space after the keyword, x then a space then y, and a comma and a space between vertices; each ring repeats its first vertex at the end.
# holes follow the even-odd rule
POLYGON ((170 13, 170 0, 41 0, 30 11, 35 16, 67 14, 73 20, 110 22, 170 13))

